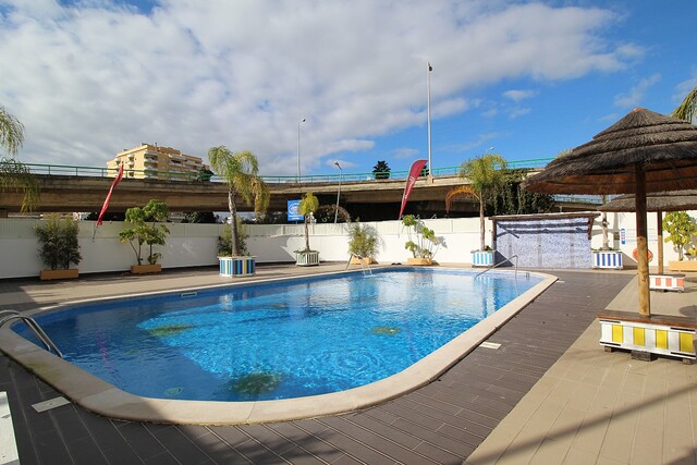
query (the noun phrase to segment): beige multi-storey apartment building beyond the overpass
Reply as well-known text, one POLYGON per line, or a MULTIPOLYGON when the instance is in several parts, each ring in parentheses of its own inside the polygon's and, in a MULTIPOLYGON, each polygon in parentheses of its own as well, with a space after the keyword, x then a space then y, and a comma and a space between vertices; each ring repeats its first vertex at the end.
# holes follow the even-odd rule
POLYGON ((107 161, 110 174, 115 174, 119 164, 124 164, 124 178, 158 179, 191 181, 196 179, 198 170, 208 170, 199 157, 182 154, 172 147, 157 144, 140 144, 138 147, 124 149, 113 160, 107 161))

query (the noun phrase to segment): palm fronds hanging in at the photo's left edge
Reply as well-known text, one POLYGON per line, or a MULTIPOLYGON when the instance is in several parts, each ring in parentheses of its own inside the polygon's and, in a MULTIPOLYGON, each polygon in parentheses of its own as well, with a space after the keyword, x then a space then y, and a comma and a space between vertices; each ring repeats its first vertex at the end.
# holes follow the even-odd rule
POLYGON ((39 185, 28 167, 14 159, 24 144, 24 125, 0 107, 0 148, 12 158, 0 157, 0 191, 23 191, 22 212, 30 211, 39 200, 39 185))

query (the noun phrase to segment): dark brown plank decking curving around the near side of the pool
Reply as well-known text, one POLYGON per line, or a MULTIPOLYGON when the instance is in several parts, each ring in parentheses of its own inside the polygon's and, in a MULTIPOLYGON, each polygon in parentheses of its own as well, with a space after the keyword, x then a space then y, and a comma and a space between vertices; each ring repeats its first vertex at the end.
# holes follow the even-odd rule
MULTIPOLYGON (((173 426, 117 421, 72 404, 0 355, 20 460, 26 464, 461 464, 633 278, 560 278, 438 381, 367 411, 270 425, 173 426)), ((601 350, 599 347, 599 350, 601 350)))

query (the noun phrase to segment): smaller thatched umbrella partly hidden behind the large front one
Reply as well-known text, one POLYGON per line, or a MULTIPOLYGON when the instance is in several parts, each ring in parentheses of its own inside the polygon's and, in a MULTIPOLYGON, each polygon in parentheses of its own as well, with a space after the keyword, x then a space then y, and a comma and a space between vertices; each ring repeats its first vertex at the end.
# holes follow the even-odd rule
MULTIPOLYGON (((600 211, 636 211, 632 194, 621 195, 598 207, 600 211)), ((697 191, 652 192, 646 195, 646 211, 656 211, 658 273, 663 274, 663 211, 697 209, 697 191)))

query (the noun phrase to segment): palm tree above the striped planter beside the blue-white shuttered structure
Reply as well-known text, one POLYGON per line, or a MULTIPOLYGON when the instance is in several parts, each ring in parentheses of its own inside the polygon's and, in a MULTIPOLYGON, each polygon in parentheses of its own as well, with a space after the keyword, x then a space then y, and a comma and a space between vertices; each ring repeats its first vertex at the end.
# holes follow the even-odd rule
POLYGON ((448 192, 445 195, 445 209, 450 209, 452 199, 456 196, 469 196, 479 200, 479 249, 486 249, 484 228, 484 205, 488 198, 496 195, 505 182, 505 168, 508 163, 503 157, 497 154, 485 154, 472 158, 460 167, 458 175, 469 180, 468 185, 462 185, 448 192))

